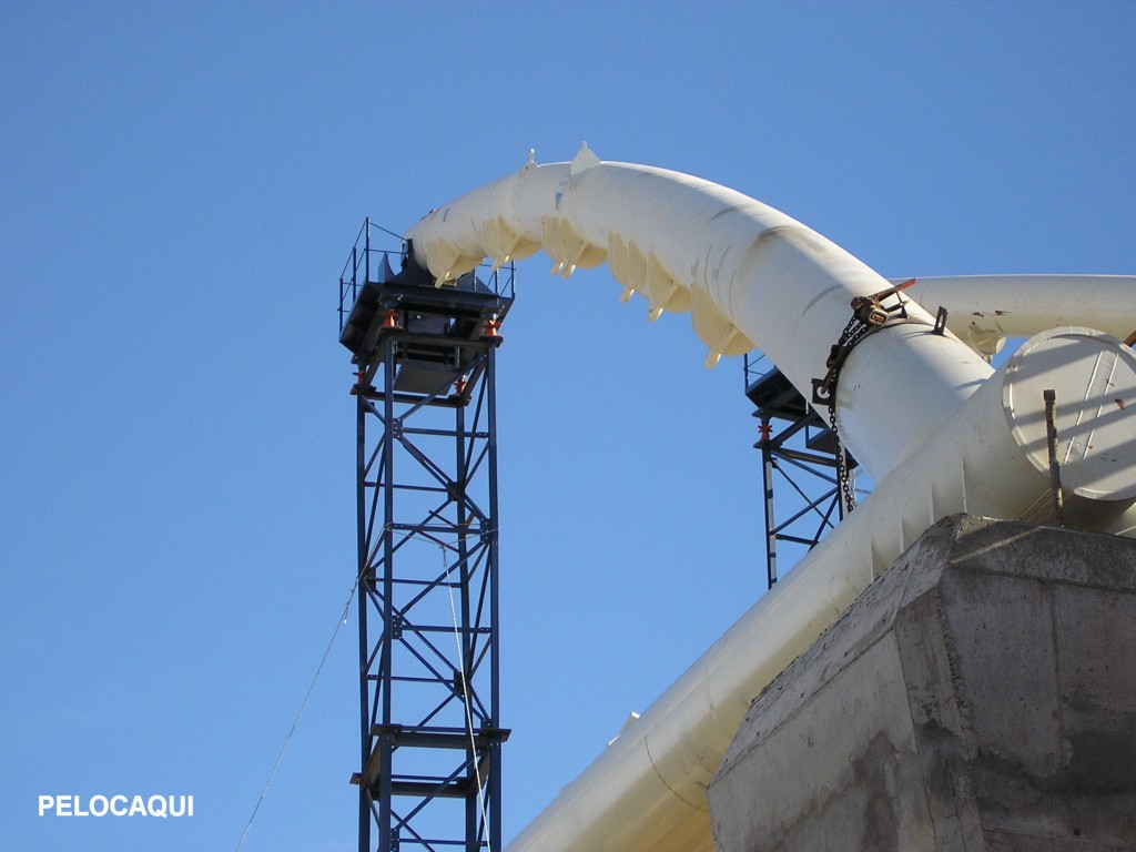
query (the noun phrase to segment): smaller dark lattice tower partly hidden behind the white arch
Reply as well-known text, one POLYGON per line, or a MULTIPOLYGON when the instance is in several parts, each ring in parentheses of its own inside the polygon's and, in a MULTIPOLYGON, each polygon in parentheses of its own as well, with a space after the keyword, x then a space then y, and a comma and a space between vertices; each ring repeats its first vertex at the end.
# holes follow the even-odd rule
MULTIPOLYGON (((745 395, 760 421, 753 448, 761 451, 766 583, 772 587, 779 576, 778 543, 796 562, 844 517, 844 503, 832 429, 780 370, 766 366, 761 371, 759 361, 745 358, 745 395), (787 425, 775 434, 774 420, 787 425)), ((854 492, 857 462, 846 451, 845 466, 854 492)))

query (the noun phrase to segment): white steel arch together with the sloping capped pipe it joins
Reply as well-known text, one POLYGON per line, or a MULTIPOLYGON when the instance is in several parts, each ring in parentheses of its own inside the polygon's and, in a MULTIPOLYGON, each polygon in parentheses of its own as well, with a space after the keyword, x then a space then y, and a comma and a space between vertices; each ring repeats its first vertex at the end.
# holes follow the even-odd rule
MULTIPOLYGON (((655 308, 688 303, 711 349, 752 341, 805 392, 825 371, 851 298, 887 286, 838 247, 740 193, 601 164, 586 150, 571 166, 529 162, 432 212, 407 236, 440 281, 485 254, 504 262, 541 245, 569 274, 608 257, 621 283, 642 289, 655 308)), ((908 314, 910 321, 888 323, 852 351, 838 385, 842 432, 858 458, 870 459, 876 491, 510 852, 711 849, 705 787, 749 704, 879 571, 944 515, 1046 518, 1042 390, 1056 391, 1074 523, 1106 528, 1136 499, 1129 348, 1089 329, 1047 332, 984 382, 991 368, 976 353, 950 333, 932 333, 918 306, 908 314)))

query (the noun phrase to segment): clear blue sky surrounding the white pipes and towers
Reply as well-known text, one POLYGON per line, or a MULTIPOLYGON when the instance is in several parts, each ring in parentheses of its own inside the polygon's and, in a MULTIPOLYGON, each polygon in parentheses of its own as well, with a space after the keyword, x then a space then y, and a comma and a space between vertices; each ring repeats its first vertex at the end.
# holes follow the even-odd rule
MULTIPOLYGON (((587 140, 886 276, 1131 274, 1134 41, 1130 2, 0 7, 0 846, 236 845, 354 576, 365 216, 587 140), (116 792, 195 816, 36 816, 116 792)), ((740 366, 603 269, 519 276, 509 837, 763 587, 740 366)), ((353 627, 250 852, 354 849, 353 627)))

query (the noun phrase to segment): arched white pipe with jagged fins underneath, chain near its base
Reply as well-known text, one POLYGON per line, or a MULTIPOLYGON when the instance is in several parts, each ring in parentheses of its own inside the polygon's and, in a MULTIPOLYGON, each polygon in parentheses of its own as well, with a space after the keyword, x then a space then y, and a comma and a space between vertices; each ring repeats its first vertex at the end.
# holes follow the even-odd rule
MULTIPOLYGON (((607 259, 652 315, 691 310, 709 362, 757 344, 807 398, 827 371, 852 298, 891 286, 760 201, 677 172, 601 162, 586 147, 571 164, 529 160, 433 210, 406 236, 442 282, 486 256, 504 264, 541 248, 566 276, 607 259)), ((907 311, 905 325, 855 348, 838 385, 841 436, 877 482, 992 373, 952 334, 928 334, 934 318, 918 303, 909 300, 907 311), (896 387, 918 389, 918 404, 896 387)))

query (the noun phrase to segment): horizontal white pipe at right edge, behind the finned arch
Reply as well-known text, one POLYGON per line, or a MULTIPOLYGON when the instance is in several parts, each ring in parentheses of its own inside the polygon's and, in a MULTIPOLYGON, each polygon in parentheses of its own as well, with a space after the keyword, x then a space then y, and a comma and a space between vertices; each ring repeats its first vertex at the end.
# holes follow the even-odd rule
POLYGON ((936 276, 917 279, 907 293, 928 310, 947 308, 946 327, 987 357, 1006 337, 1029 337, 1059 325, 1087 326, 1120 340, 1136 332, 1134 275, 936 276))

